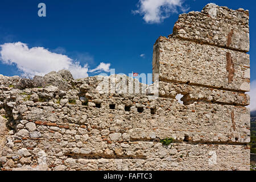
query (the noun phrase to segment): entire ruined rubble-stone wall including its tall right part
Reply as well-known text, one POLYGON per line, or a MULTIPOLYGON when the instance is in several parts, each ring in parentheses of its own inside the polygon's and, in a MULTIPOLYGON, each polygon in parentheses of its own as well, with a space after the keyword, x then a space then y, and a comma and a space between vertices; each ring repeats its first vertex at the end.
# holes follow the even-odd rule
POLYGON ((155 99, 98 92, 106 78, 122 82, 117 75, 51 72, 43 88, 24 89, 0 75, 0 168, 249 170, 248 51, 249 11, 210 3, 156 40, 155 99))

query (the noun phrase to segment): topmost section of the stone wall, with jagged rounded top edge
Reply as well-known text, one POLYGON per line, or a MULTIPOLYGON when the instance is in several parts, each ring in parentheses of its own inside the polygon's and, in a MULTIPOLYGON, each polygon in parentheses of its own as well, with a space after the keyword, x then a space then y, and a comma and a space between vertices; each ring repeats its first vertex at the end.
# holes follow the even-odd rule
POLYGON ((249 11, 210 3, 201 12, 181 14, 171 37, 248 52, 249 11))

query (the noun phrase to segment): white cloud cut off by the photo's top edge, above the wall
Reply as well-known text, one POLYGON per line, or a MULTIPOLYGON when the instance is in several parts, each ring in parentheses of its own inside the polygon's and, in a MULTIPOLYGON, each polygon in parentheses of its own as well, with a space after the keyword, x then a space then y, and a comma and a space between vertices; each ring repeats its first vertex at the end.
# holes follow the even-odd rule
POLYGON ((133 13, 143 15, 147 23, 160 23, 170 17, 171 13, 177 13, 178 8, 183 12, 187 11, 183 2, 184 0, 139 0, 138 10, 133 13))

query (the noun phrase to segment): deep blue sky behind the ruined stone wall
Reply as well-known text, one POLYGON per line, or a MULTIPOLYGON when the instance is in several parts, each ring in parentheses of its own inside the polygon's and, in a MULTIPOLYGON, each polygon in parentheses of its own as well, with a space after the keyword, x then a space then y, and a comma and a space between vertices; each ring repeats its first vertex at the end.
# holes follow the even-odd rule
MULTIPOLYGON (((64 59, 67 64, 79 62, 79 65, 72 63, 69 66, 74 72, 84 69, 89 76, 108 72, 109 68, 126 75, 131 72, 151 73, 155 40, 160 35, 172 33, 174 23, 183 11, 201 11, 210 2, 230 9, 242 7, 250 10, 251 81, 256 80, 255 1, 185 0, 177 4, 176 12, 159 23, 154 20, 146 22, 142 14, 133 13, 138 10, 139 0, 1 0, 0 45, 20 42, 19 46, 24 49, 43 47, 48 53, 61 53, 65 57, 60 61, 64 59), (46 4, 46 17, 38 16, 40 2, 46 4)), ((31 67, 43 67, 36 61, 40 60, 35 59, 31 67)), ((32 68, 22 69, 29 72, 32 68)), ((15 65, 0 61, 0 74, 13 76, 21 72, 15 65)))

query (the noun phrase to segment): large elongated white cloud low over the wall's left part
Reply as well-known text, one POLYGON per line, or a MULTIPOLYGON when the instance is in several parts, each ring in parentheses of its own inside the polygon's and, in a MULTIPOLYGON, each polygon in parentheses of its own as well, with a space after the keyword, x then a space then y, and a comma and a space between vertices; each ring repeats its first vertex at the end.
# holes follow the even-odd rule
MULTIPOLYGON (((27 44, 21 42, 5 43, 0 47, 0 59, 2 63, 15 65, 24 75, 43 76, 51 71, 68 69, 75 78, 88 76, 88 64, 81 65, 80 61, 73 60, 61 53, 48 51, 48 49, 43 47, 28 48, 27 44)), ((61 49, 58 52, 64 51, 61 49)), ((109 72, 109 67, 110 64, 101 63, 96 69, 92 69, 90 72, 109 72)))

